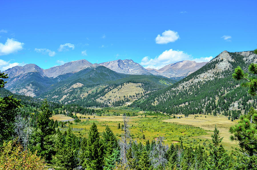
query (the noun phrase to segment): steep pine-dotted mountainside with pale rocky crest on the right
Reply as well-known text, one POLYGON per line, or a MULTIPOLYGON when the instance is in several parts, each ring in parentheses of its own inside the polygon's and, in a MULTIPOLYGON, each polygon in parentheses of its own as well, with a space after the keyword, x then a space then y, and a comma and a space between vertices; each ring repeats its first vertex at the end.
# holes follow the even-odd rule
POLYGON ((257 62, 257 55, 252 51, 223 51, 186 78, 151 92, 130 106, 167 114, 228 115, 229 110, 238 110, 242 114, 250 106, 256 107, 256 98, 249 96, 247 90, 238 85, 240 82, 232 78, 232 73, 237 66, 247 70, 251 62, 257 62))

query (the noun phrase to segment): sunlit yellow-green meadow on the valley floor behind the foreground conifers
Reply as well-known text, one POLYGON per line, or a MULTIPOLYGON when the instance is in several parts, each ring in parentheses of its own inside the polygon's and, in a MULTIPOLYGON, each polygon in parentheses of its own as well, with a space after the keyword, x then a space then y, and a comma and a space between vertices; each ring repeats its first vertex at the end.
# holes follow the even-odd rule
MULTIPOLYGON (((116 110, 117 111, 117 110, 116 110)), ((119 112, 119 111, 117 111, 119 112)), ((139 114, 142 114, 140 112, 139 114)), ((73 133, 77 136, 87 137, 90 126, 95 122, 97 124, 98 131, 100 135, 105 130, 105 126, 108 125, 113 133, 120 139, 123 131, 118 129, 118 124, 123 124, 122 116, 88 116, 76 114, 78 117, 81 116, 80 123, 66 124, 65 130, 68 126, 72 127, 73 133), (90 119, 88 119, 90 117, 90 119)), ((181 115, 176 115, 181 116, 181 115)), ((225 116, 212 116, 212 115, 190 115, 189 117, 184 117, 182 115, 181 119, 168 117, 168 116, 144 116, 144 114, 139 116, 133 116, 129 118, 129 129, 130 135, 133 140, 138 143, 141 142, 145 144, 146 140, 149 139, 151 142, 154 138, 159 135, 165 137, 165 144, 170 145, 172 143, 180 144, 183 141, 183 145, 196 147, 199 144, 208 148, 209 140, 211 139, 211 134, 216 125, 220 131, 220 136, 224 137, 222 145, 225 149, 231 150, 231 146, 236 146, 235 142, 230 141, 229 133, 230 126, 236 124, 237 121, 231 122, 225 116), (199 116, 194 118, 194 116, 199 116), (205 118, 206 116, 206 118, 205 118), (145 136, 145 139, 142 136, 145 136)), ((54 120, 69 120, 71 117, 64 115, 53 115, 54 120)))

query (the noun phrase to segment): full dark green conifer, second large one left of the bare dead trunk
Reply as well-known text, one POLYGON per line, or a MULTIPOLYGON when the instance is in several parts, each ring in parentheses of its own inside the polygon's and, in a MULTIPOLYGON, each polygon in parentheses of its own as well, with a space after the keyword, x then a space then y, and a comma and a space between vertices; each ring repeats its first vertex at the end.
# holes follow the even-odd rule
POLYGON ((85 147, 82 167, 88 170, 103 169, 103 144, 95 123, 91 126, 85 147))

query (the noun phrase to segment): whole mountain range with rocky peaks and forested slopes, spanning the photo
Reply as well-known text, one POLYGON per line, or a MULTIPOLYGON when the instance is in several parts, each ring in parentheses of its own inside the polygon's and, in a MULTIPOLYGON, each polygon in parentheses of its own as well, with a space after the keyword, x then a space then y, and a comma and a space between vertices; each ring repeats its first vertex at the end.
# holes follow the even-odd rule
POLYGON ((46 70, 27 64, 4 71, 9 76, 5 88, 85 107, 126 104, 168 114, 228 114, 229 110, 246 112, 256 107, 256 100, 232 78, 234 68, 247 71, 251 62, 257 62, 252 51, 223 51, 208 63, 181 61, 159 70, 144 69, 132 60, 100 64, 77 60, 46 70), (186 77, 179 81, 167 78, 173 76, 186 77))

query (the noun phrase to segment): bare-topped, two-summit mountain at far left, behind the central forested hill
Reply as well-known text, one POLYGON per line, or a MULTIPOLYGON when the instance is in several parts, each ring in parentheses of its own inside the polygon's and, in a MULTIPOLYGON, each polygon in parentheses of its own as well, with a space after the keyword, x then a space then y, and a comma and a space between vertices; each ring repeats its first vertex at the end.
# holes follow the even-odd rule
POLYGON ((72 61, 46 70, 36 64, 15 66, 4 71, 9 76, 5 88, 16 94, 35 97, 51 85, 91 66, 95 65, 87 60, 72 61))

